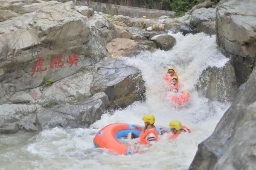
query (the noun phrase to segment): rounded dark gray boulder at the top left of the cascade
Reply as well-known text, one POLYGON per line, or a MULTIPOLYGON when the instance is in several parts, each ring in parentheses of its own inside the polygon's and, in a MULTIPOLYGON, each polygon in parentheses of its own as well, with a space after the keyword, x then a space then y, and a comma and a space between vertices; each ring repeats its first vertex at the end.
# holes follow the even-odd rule
POLYGON ((157 44, 157 47, 165 51, 172 49, 176 43, 176 39, 171 35, 161 34, 152 37, 150 40, 154 41, 157 44))

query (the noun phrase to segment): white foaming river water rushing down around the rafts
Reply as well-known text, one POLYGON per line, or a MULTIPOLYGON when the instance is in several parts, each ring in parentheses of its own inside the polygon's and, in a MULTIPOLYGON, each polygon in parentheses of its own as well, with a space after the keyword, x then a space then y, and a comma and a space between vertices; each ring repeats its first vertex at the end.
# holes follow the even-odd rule
POLYGON ((218 51, 215 36, 203 33, 177 39, 172 50, 145 52, 134 58, 123 58, 128 65, 141 70, 146 86, 146 100, 129 107, 107 112, 90 128, 55 127, 40 133, 19 132, 0 135, 0 170, 185 170, 195 156, 198 144, 211 135, 230 103, 208 101, 201 97, 195 84, 207 66, 222 67, 228 61, 218 51), (163 101, 167 66, 175 66, 183 89, 191 93, 191 104, 176 110, 163 101), (93 146, 95 133, 107 124, 126 122, 143 124, 145 113, 156 117, 156 125, 168 126, 180 120, 192 130, 174 141, 166 136, 143 154, 116 156, 93 146))

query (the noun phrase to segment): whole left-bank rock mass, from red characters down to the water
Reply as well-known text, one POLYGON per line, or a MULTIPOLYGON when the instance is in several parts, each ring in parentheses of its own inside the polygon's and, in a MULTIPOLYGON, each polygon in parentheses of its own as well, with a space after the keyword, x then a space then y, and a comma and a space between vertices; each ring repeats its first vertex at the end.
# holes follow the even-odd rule
POLYGON ((140 72, 108 57, 113 22, 87 9, 0 0, 17 13, 0 22, 0 133, 89 126, 143 98, 140 72))

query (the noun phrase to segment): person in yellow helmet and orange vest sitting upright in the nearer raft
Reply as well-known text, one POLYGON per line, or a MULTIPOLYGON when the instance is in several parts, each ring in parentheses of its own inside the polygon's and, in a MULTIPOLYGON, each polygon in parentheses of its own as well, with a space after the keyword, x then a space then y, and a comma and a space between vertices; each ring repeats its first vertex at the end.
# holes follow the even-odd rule
POLYGON ((154 126, 154 115, 144 115, 142 120, 144 121, 145 126, 136 126, 137 129, 141 130, 140 136, 130 132, 127 135, 127 139, 139 138, 140 144, 154 144, 158 140, 157 129, 154 126))

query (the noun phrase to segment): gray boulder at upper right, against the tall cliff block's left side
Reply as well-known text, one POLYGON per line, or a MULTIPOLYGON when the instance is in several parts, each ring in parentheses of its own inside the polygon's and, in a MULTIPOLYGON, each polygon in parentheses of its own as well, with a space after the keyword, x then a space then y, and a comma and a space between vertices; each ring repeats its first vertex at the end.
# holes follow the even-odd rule
POLYGON ((198 32, 204 32, 209 35, 216 33, 215 29, 216 9, 201 8, 191 14, 190 26, 198 32))

